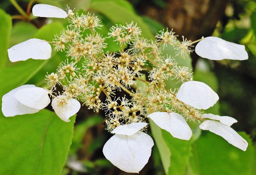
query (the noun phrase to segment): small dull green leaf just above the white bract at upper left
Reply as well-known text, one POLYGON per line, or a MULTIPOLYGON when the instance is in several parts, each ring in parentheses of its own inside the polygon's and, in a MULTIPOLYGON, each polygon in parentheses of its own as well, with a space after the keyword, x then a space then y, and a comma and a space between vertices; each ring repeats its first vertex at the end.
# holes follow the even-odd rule
POLYGON ((17 22, 11 31, 10 47, 33 38, 38 29, 28 22, 17 22))

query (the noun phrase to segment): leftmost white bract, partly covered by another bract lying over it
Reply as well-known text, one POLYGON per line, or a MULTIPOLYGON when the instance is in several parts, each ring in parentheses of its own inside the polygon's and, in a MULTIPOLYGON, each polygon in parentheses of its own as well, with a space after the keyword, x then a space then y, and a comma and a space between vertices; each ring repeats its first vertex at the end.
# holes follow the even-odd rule
POLYGON ((2 97, 2 113, 5 117, 13 117, 15 115, 23 115, 28 113, 36 113, 39 109, 33 109, 28 106, 20 103, 15 97, 14 94, 20 89, 35 87, 34 85, 26 84, 20 87, 17 87, 10 92, 6 93, 2 97))

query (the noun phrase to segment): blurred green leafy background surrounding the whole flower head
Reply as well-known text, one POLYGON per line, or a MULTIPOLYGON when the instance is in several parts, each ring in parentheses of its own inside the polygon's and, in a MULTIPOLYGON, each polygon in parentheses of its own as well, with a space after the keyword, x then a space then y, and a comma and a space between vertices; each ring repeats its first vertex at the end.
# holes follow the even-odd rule
MULTIPOLYGON (((180 64, 193 68, 194 80, 208 84, 220 97, 206 112, 228 115, 232 125, 248 141, 246 152, 224 139, 197 129, 190 123, 191 141, 174 139, 151 123, 155 146, 140 174, 170 175, 255 175, 256 174, 256 1, 255 0, 17 0, 26 12, 28 4, 41 3, 76 12, 96 14, 107 36, 110 26, 134 21, 143 37, 152 39, 162 28, 190 40, 218 36, 244 44, 249 59, 212 61, 191 54, 180 64), (200 137, 198 137, 200 135, 200 137)), ((0 97, 22 84, 44 86, 46 72, 54 72, 65 60, 65 53, 53 51, 50 60, 11 63, 7 49, 30 38, 52 40, 67 25, 67 20, 22 18, 14 1, 0 2, 0 97)), ((28 10, 30 14, 30 10, 28 10)), ((180 37, 181 38, 181 37, 180 37)), ((111 39, 106 51, 118 51, 111 39)), ((174 54, 171 50, 165 53, 174 54)), ((50 107, 48 109, 52 110, 50 107)), ((104 130, 104 112, 94 113, 83 106, 70 123, 60 121, 51 111, 6 119, 0 114, 0 174, 124 175, 102 153, 111 137, 104 130), (76 121, 75 121, 76 120, 76 121), (74 123, 75 122, 75 123, 74 123), (73 134, 74 124, 74 135, 73 134), (47 127, 46 127, 47 126, 47 127), (47 128, 47 132, 45 129, 47 128), (43 134, 44 133, 44 134, 43 134), (40 135, 40 136, 38 136, 40 135), (46 138, 46 139, 42 139, 46 138), (72 143, 69 150, 69 145, 72 143), (41 146, 44 144, 44 146, 41 146), (39 145, 39 146, 38 146, 39 145), (35 153, 35 154, 34 154, 35 153), (66 157, 68 157, 66 159, 66 157), (62 169, 64 165, 64 168, 62 169)))

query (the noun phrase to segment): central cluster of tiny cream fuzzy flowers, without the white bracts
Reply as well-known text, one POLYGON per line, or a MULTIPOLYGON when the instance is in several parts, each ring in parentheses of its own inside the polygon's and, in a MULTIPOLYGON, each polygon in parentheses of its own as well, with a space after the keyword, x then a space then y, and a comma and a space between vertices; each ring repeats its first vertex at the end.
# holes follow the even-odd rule
POLYGON ((161 55, 162 44, 180 48, 178 50, 183 53, 181 55, 184 55, 185 51, 191 52, 189 44, 185 50, 182 49, 185 48, 184 42, 178 42, 174 32, 168 32, 168 29, 166 32, 160 31, 160 34, 156 35, 156 40, 149 41, 140 38, 141 30, 133 22, 126 26, 112 26, 108 35, 120 44, 120 52, 104 54, 105 38, 95 30, 101 28, 100 20, 96 16, 89 13, 72 14, 68 21, 70 24, 67 29, 59 36, 56 35, 54 46, 56 50, 65 51, 67 58, 74 62, 68 64, 67 60, 67 63, 60 64, 56 73, 46 76, 52 90, 66 78, 69 85, 63 85, 62 95, 80 99, 94 111, 104 109, 106 129, 109 131, 120 124, 144 121, 146 111, 176 111, 191 119, 200 117, 199 111, 177 100, 175 93, 165 89, 164 82, 167 80, 186 82, 192 79, 191 71, 187 67, 178 66, 171 56, 161 55), (91 33, 85 35, 86 30, 90 30, 91 33), (124 50, 127 44, 130 45, 130 49, 124 50), (83 67, 76 68, 76 63, 80 61, 83 67), (136 85, 135 80, 140 80, 148 62, 151 62, 153 68, 148 72, 150 82, 144 80, 147 88, 128 90, 136 85), (125 96, 114 100, 111 98, 116 95, 116 91, 122 90, 131 96, 130 101, 125 96), (106 103, 100 100, 101 93, 106 95, 106 103), (140 100, 136 99, 138 93, 143 94, 140 100), (190 115, 191 110, 196 111, 194 115, 190 115))

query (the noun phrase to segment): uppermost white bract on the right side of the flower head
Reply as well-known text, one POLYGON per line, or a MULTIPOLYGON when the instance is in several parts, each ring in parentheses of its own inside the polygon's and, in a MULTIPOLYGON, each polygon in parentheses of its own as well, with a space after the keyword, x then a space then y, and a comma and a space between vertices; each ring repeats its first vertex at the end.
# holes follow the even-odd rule
POLYGON ((195 48, 196 54, 210 60, 247 60, 245 47, 240 44, 227 42, 218 37, 206 37, 195 48))

